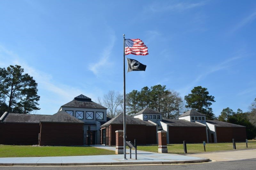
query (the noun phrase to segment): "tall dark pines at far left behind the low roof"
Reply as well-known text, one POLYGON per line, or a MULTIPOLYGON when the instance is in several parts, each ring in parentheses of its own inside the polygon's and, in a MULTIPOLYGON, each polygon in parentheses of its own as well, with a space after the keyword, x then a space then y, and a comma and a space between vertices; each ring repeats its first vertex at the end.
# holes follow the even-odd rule
POLYGON ((37 95, 37 83, 23 72, 24 69, 18 65, 0 68, 0 93, 8 100, 7 111, 12 111, 13 107, 22 113, 40 109, 36 107, 40 98, 37 95))

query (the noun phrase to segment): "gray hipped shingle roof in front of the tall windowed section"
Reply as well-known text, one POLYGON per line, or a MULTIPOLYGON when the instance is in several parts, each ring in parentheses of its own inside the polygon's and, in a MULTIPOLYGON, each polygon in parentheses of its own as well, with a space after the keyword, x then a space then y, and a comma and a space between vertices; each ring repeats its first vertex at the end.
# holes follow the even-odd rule
POLYGON ((58 122, 58 123, 84 123, 83 121, 69 115, 65 111, 59 111, 50 117, 42 120, 41 122, 58 122))

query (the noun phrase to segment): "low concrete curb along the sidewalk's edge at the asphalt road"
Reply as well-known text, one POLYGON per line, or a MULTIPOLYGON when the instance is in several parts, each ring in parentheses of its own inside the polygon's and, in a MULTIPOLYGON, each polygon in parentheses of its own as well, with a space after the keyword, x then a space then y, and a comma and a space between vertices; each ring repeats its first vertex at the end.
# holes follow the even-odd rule
POLYGON ((0 166, 85 166, 85 165, 145 165, 145 164, 188 164, 209 162, 210 159, 159 162, 100 162, 100 163, 0 163, 0 166))

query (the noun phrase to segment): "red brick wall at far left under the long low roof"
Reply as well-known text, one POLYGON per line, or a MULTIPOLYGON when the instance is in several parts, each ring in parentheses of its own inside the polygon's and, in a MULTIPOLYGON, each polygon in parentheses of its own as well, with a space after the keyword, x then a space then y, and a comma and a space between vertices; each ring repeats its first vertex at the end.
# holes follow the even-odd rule
POLYGON ((39 123, 0 123, 0 144, 37 145, 39 132, 39 123))

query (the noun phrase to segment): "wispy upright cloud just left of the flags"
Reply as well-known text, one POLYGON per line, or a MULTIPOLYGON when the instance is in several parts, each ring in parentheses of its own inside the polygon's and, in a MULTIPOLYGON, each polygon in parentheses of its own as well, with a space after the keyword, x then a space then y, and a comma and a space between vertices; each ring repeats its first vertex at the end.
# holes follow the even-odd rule
POLYGON ((103 53, 100 54, 101 57, 99 61, 89 64, 89 70, 91 70, 96 76, 99 76, 101 73, 106 73, 107 70, 113 65, 113 63, 109 60, 109 57, 112 53, 116 41, 116 36, 114 35, 114 32, 112 32, 112 34, 110 35, 109 40, 109 45, 105 47, 103 53))

